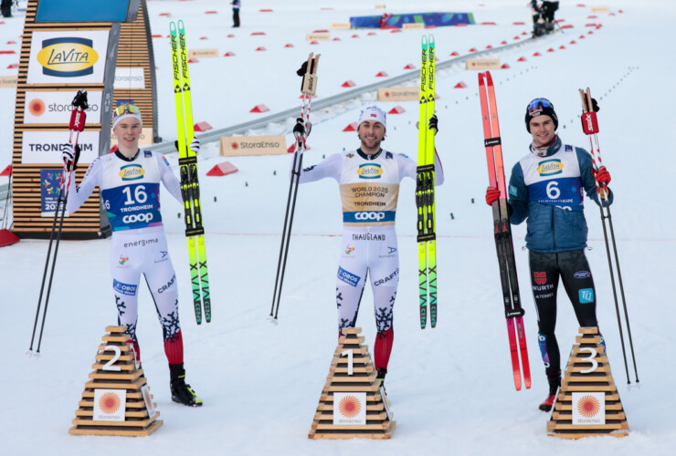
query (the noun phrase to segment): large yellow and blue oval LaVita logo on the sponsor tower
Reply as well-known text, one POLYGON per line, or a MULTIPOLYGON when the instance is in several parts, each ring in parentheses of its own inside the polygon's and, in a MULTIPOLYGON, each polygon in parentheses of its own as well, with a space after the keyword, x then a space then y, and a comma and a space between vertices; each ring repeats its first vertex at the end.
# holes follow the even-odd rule
POLYGON ((99 53, 93 41, 80 37, 58 37, 42 41, 42 50, 37 53, 37 62, 42 73, 58 78, 76 78, 93 74, 99 53))

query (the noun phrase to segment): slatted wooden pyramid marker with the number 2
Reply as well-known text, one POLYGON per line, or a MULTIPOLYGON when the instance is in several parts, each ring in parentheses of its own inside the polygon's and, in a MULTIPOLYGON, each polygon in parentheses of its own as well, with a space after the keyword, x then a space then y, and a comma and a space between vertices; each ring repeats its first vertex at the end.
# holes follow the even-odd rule
POLYGON ((75 425, 70 434, 79 435, 150 435, 163 421, 157 420, 160 412, 155 410, 143 368, 136 365, 129 336, 123 334, 123 326, 107 326, 108 334, 102 337, 95 370, 85 384, 79 409, 75 411, 75 425), (123 399, 121 399, 123 398, 123 399), (122 407, 123 406, 123 407, 122 407), (102 411, 101 411, 102 410, 102 411), (123 414, 115 415, 117 410, 123 414), (94 420, 95 414, 103 420, 94 420), (113 420, 117 416, 120 420, 113 420))

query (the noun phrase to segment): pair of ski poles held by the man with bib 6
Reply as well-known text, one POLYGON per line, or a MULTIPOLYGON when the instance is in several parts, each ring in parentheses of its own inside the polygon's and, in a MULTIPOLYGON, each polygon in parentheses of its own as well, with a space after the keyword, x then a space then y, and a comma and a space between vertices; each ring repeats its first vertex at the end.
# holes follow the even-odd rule
MULTIPOLYGON (((582 130, 589 137, 589 149, 591 150, 592 161, 594 162, 594 169, 598 171, 598 168, 603 166, 601 162, 601 150, 598 146, 598 121, 597 121, 597 110, 595 109, 595 101, 591 96, 591 90, 586 88, 586 91, 579 89, 580 97, 582 98, 582 130)), ((606 184, 597 183, 597 194, 600 199, 599 209, 601 212, 601 224, 603 225, 603 238, 606 241, 606 253, 607 253, 607 264, 608 270, 610 271, 610 282, 613 287, 613 298, 615 299, 615 311, 618 315, 618 327, 619 327, 619 341, 622 345, 622 357, 624 358, 624 368, 627 373, 627 384, 631 383, 629 380, 629 368, 627 364, 627 352, 624 345, 624 336, 622 335, 622 320, 619 316, 619 306, 618 306, 618 290, 615 285, 615 274, 614 270, 618 273, 618 285, 620 296, 622 297, 622 306, 624 307, 624 316, 625 321, 627 322, 627 333, 629 338, 629 348, 631 349, 631 359, 634 363, 634 375, 636 376, 636 382, 639 383, 639 371, 636 368, 636 357, 634 355, 634 344, 631 340, 631 328, 629 327, 629 316, 627 312, 627 301, 624 297, 624 286, 622 285, 622 275, 619 271, 619 258, 618 258, 618 246, 615 244, 615 232, 613 230, 613 219, 610 217, 610 204, 607 201, 608 190, 606 184), (607 226, 606 226, 607 225, 607 226), (610 254, 610 244, 608 243, 608 230, 610 231, 610 239, 612 241, 612 251, 615 258, 615 267, 613 266, 613 261, 610 254)))

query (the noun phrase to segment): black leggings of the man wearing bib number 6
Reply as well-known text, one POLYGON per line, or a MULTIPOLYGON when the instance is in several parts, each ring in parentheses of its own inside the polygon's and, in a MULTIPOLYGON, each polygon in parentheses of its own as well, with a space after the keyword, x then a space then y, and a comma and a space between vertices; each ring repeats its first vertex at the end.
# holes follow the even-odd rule
POLYGON ((597 325, 597 294, 584 250, 542 254, 530 252, 531 285, 537 310, 538 344, 548 372, 560 372, 561 355, 554 334, 556 290, 564 283, 580 326, 597 325))

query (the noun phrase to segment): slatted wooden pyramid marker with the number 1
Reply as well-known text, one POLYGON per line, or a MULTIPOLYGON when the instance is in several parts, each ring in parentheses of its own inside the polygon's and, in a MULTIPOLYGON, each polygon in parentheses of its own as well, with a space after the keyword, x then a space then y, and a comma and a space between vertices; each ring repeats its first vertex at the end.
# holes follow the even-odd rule
POLYGON ((362 345, 364 337, 359 336, 361 331, 359 327, 343 329, 312 421, 312 430, 308 434, 310 439, 392 437, 396 421, 391 420, 384 390, 380 389, 380 380, 375 378, 376 371, 368 347, 362 345), (346 412, 352 418, 360 411, 363 423, 335 424, 336 420, 340 420, 339 415, 346 412))

